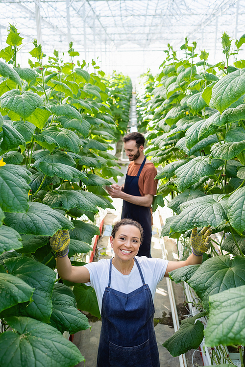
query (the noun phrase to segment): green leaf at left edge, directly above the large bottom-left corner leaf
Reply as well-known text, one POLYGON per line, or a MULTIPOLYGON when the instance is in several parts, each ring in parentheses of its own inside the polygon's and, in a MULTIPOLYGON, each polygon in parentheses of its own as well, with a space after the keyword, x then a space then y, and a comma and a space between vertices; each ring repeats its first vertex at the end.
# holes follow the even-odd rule
POLYGON ((0 273, 0 312, 18 303, 31 302, 34 288, 11 274, 0 273))

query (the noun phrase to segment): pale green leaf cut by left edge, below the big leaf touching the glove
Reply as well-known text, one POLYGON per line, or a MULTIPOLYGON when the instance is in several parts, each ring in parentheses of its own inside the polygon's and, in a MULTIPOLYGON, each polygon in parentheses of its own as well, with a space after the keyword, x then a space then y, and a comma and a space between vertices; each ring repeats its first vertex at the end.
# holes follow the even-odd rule
POLYGON ((22 247, 21 236, 13 228, 0 227, 0 254, 4 251, 16 250, 22 247))

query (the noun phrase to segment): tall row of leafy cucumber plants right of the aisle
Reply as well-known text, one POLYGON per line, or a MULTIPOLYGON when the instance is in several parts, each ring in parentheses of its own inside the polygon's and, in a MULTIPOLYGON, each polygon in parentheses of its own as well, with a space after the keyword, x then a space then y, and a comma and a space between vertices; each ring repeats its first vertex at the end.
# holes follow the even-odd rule
MULTIPOLYGON (((150 120, 146 154, 162 165, 158 196, 171 194, 162 236, 182 239, 188 254, 190 230, 211 225, 221 232, 221 242, 212 239, 211 251, 202 265, 174 270, 175 282, 186 281, 208 315, 207 328, 197 320, 204 314, 181 322, 163 345, 173 356, 196 348, 205 335, 207 346, 233 345, 241 354, 245 344, 245 64, 238 52, 245 35, 236 41, 222 34, 225 62, 208 62, 188 39, 180 60, 169 46, 167 57, 155 78, 151 98, 138 102, 143 120, 150 120), (230 56, 236 55, 235 66, 230 56)), ((147 81, 148 83, 148 81, 147 81)), ((148 84, 147 84, 148 88, 148 84)), ((231 363, 212 352, 212 363, 231 363)))

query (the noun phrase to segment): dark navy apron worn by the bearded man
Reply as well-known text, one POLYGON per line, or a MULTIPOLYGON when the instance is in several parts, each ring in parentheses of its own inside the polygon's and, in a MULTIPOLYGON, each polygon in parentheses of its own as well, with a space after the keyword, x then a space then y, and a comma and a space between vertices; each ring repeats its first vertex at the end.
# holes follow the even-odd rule
MULTIPOLYGON (((145 157, 140 169, 137 173, 137 176, 129 176, 126 173, 126 179, 124 183, 124 193, 133 196, 141 196, 139 190, 139 177, 141 171, 145 165, 147 157, 145 157)), ((139 252, 137 256, 150 256, 150 244, 151 244, 151 214, 150 208, 146 206, 136 205, 129 203, 128 201, 123 200, 123 211, 122 218, 130 218, 136 220, 142 225, 143 228, 143 241, 140 245, 139 252)))

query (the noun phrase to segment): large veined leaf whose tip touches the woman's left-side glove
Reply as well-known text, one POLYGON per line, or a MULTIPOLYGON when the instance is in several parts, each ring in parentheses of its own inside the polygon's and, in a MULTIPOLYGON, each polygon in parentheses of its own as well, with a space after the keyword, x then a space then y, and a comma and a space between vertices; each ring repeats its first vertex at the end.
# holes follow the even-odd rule
POLYGON ((30 202, 27 213, 5 213, 4 223, 20 234, 41 236, 53 236, 59 229, 73 228, 70 220, 39 202, 30 202))

